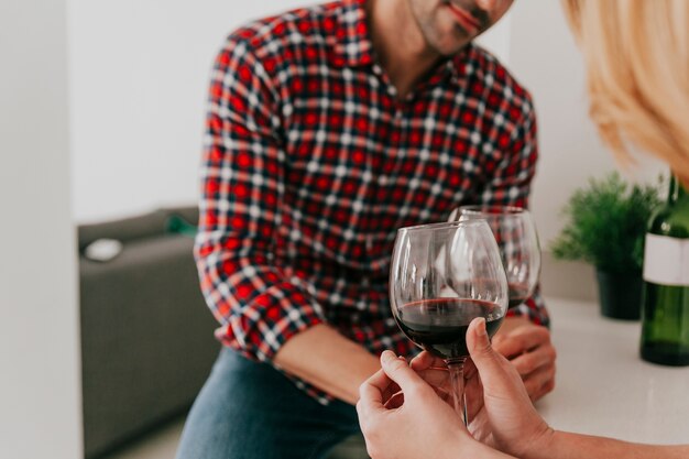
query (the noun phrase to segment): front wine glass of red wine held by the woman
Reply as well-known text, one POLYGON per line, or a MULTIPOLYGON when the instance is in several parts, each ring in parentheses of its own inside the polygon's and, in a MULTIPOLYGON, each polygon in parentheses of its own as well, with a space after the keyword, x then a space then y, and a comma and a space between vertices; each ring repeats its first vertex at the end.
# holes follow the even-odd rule
POLYGON ((455 409, 468 424, 467 329, 471 320, 483 317, 492 337, 507 310, 507 278, 485 220, 400 229, 390 298, 395 321, 407 338, 447 363, 455 409))

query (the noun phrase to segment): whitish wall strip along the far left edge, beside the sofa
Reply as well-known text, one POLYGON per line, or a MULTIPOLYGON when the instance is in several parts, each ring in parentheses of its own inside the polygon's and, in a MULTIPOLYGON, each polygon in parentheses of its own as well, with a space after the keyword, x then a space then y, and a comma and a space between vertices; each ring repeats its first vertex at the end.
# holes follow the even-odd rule
POLYGON ((81 456, 66 0, 0 2, 0 457, 81 456))

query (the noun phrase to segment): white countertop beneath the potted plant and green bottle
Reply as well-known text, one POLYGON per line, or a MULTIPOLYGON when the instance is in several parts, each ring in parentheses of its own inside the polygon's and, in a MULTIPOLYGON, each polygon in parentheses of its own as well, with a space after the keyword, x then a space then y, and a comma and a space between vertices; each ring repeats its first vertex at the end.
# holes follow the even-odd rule
POLYGON ((555 391, 536 404, 551 427, 628 441, 689 444, 689 367, 638 357, 641 323, 593 303, 547 298, 558 352, 555 391))

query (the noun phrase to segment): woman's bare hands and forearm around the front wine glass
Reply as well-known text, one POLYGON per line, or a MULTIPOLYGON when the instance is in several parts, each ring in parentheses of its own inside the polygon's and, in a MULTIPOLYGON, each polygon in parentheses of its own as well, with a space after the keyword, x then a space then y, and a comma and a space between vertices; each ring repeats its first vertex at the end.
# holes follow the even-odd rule
POLYGON ((449 378, 440 359, 424 352, 407 369, 386 353, 381 356, 382 370, 362 384, 357 405, 373 459, 689 457, 689 446, 630 444, 550 428, 531 403, 515 367, 491 347, 484 319, 471 323, 467 343, 473 362, 467 384, 471 436, 457 415, 451 419, 449 378), (490 448, 477 448, 477 440, 490 448), (497 451, 507 456, 494 456, 497 451))

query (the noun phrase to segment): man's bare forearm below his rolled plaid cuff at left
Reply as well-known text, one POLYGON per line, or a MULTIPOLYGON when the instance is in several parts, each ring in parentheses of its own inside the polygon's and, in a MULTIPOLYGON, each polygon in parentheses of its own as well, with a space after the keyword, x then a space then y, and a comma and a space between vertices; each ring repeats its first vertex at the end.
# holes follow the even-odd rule
POLYGON ((275 364, 352 405, 359 386, 380 370, 378 358, 327 325, 316 325, 289 339, 275 364))

